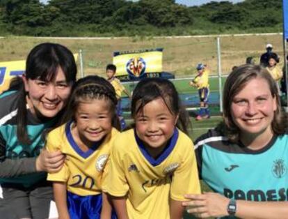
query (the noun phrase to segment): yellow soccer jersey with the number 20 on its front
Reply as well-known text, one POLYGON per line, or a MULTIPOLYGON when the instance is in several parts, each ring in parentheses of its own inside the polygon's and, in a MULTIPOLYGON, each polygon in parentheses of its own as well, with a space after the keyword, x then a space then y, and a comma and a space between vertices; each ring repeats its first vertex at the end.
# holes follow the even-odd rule
POLYGON ((112 129, 102 142, 86 152, 81 151, 71 133, 71 122, 52 130, 47 136, 47 149, 65 153, 63 168, 48 174, 49 181, 67 182, 67 190, 81 196, 97 195, 102 192, 102 181, 106 176, 104 169, 111 151, 113 139, 118 130, 112 129))

